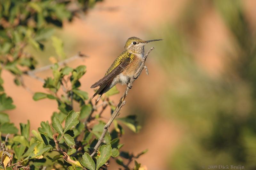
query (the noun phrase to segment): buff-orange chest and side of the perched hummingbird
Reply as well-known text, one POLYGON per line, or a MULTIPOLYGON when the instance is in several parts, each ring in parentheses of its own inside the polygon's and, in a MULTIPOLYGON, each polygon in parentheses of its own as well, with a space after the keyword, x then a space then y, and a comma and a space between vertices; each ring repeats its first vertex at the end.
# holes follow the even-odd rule
POLYGON ((123 71, 123 75, 132 78, 142 63, 141 59, 142 57, 135 55, 132 63, 130 63, 123 71))

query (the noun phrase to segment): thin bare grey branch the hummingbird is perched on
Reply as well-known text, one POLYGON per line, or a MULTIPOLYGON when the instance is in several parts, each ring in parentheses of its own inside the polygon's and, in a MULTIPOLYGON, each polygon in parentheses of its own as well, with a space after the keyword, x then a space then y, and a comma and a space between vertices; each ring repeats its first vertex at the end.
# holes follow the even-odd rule
POLYGON ((142 70, 144 69, 144 66, 145 66, 145 62, 146 62, 146 59, 148 57, 148 54, 154 49, 154 47, 150 48, 147 52, 147 54, 144 55, 144 57, 142 58, 142 63, 140 65, 140 68, 137 70, 137 72, 134 74, 133 78, 130 79, 130 83, 127 85, 125 91, 124 91, 124 94, 123 96, 121 97, 121 99, 119 100, 119 103, 117 105, 117 107, 115 108, 113 114, 111 115, 108 123, 104 126, 103 128, 103 132, 97 142, 97 144, 95 145, 94 147, 94 151, 92 152, 92 154, 90 155, 91 157, 94 156, 94 154, 96 153, 96 151, 98 150, 98 148, 100 147, 100 144, 102 143, 102 141, 104 140, 104 137, 108 131, 108 128, 109 126, 111 125, 111 123, 113 122, 113 120, 116 118, 116 116, 118 115, 119 111, 121 110, 121 108, 124 106, 125 104, 125 101, 124 99, 126 98, 129 90, 132 88, 132 84, 133 82, 135 81, 136 78, 138 78, 140 76, 140 73, 142 72, 142 70))

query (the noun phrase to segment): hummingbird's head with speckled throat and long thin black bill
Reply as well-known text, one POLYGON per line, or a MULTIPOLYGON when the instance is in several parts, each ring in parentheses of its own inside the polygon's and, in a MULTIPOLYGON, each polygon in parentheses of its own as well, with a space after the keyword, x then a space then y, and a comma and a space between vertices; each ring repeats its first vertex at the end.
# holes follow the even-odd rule
POLYGON ((140 54, 144 54, 144 46, 148 42, 160 41, 160 40, 162 40, 162 39, 144 41, 144 40, 141 40, 138 37, 130 37, 126 41, 124 49, 131 52, 131 53, 140 55, 140 54))

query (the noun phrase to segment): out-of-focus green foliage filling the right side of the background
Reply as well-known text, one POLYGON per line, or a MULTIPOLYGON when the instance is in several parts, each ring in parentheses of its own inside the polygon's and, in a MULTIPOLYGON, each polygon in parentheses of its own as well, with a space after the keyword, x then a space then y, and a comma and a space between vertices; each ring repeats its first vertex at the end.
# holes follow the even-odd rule
POLYGON ((157 47, 163 49, 159 61, 172 85, 162 101, 164 112, 186 127, 183 142, 168 160, 170 169, 256 169, 256 39, 242 2, 189 2, 165 31, 165 46, 157 47), (227 51, 225 70, 214 78, 198 66, 191 50, 200 18, 210 10, 221 16, 234 50, 227 51))

